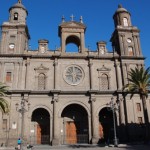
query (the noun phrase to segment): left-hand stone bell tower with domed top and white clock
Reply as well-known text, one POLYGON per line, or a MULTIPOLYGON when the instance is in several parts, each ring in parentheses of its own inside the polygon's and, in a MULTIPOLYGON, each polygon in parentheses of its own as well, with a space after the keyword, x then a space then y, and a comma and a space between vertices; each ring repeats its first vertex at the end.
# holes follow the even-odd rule
POLYGON ((27 15, 21 0, 10 7, 9 21, 2 24, 1 54, 23 54, 28 49, 27 15))

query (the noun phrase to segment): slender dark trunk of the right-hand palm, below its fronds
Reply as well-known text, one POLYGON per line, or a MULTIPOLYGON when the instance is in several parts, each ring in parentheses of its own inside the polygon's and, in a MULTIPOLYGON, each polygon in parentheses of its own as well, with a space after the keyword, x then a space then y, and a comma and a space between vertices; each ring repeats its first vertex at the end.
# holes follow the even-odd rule
POLYGON ((143 104, 143 113, 145 119, 145 143, 149 141, 149 119, 148 119, 148 112, 147 112, 147 105, 146 105, 146 97, 142 95, 142 104, 143 104))

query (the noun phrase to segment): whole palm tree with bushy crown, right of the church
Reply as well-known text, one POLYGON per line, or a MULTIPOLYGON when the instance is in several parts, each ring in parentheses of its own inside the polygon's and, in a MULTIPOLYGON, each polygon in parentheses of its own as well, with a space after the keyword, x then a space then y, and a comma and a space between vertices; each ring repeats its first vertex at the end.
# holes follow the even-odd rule
POLYGON ((141 67, 135 67, 135 69, 131 69, 128 73, 128 81, 129 83, 124 86, 125 96, 130 93, 130 99, 133 97, 134 94, 139 94, 140 99, 142 100, 143 106, 143 113, 145 119, 145 126, 146 126, 146 134, 145 140, 148 140, 148 126, 149 126, 149 119, 148 119, 148 112, 147 112, 147 105, 146 99, 148 98, 148 93, 150 91, 150 67, 145 69, 141 67))

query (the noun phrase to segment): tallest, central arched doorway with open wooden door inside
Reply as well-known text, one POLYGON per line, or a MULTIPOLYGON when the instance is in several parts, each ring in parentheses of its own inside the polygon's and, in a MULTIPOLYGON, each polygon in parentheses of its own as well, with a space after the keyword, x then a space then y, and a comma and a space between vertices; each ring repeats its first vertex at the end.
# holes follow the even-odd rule
POLYGON ((88 114, 78 105, 68 105, 62 112, 64 135, 63 144, 88 143, 88 114))

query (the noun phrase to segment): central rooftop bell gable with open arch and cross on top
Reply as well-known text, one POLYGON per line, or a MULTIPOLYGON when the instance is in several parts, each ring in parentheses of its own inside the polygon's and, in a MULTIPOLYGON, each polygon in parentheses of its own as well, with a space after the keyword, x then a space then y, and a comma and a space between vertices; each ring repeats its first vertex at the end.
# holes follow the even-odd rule
POLYGON ((80 22, 74 21, 74 16, 71 16, 71 21, 65 22, 64 17, 59 26, 59 37, 61 38, 61 52, 66 52, 66 45, 74 43, 78 47, 79 53, 85 52, 84 33, 86 26, 83 24, 82 17, 80 22))

